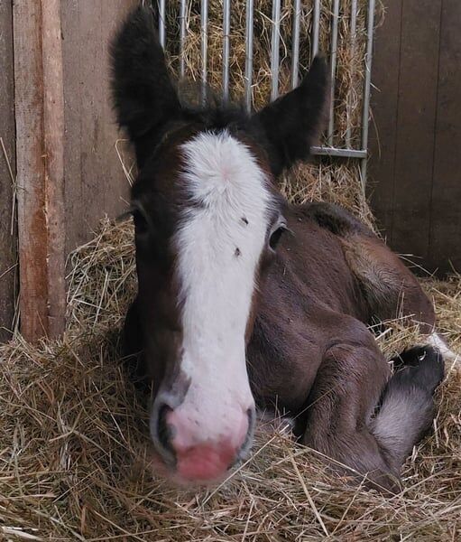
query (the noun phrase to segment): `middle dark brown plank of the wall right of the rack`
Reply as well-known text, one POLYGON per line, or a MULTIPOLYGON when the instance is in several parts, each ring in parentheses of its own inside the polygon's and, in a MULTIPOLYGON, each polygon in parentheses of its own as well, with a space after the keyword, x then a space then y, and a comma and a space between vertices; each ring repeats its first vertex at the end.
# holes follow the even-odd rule
POLYGON ((427 261, 441 0, 402 3, 392 248, 427 261))

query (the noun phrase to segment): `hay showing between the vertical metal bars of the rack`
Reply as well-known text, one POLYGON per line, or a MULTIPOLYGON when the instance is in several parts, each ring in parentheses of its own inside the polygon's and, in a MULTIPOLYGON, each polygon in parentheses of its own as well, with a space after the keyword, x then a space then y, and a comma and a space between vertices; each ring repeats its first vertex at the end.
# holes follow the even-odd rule
MULTIPOLYGON (((200 4, 197 0, 189 2, 186 16, 186 42, 183 59, 186 64, 186 78, 200 80, 200 4)), ((311 36, 313 2, 301 3, 300 14, 300 79, 307 73, 311 56, 311 36)), ((318 50, 329 57, 331 54, 331 19, 333 0, 323 0, 320 8, 318 50)), ((351 0, 340 2, 337 72, 335 82, 335 134, 334 143, 342 143, 346 136, 346 120, 352 127, 352 143, 360 145, 360 127, 362 116, 362 95, 364 83, 364 53, 366 48, 366 16, 368 0, 357 1, 357 23, 355 28, 355 47, 351 49, 351 0)), ((230 31, 230 92, 231 98, 242 100, 244 97, 245 69, 245 10, 246 0, 233 0, 231 9, 230 31)), ((381 6, 377 17, 382 14, 381 6)), ((180 29, 178 19, 180 3, 169 2, 167 5, 166 51, 171 70, 178 74, 180 66, 180 29)), ((290 67, 292 53, 293 3, 281 3, 281 45, 280 45, 280 93, 290 90, 290 67)), ((223 70, 223 2, 208 2, 208 47, 207 70, 208 83, 213 89, 222 89, 223 70)), ((252 80, 252 103, 255 108, 267 103, 271 91, 271 38, 272 38, 272 0, 254 2, 254 70, 252 80)))

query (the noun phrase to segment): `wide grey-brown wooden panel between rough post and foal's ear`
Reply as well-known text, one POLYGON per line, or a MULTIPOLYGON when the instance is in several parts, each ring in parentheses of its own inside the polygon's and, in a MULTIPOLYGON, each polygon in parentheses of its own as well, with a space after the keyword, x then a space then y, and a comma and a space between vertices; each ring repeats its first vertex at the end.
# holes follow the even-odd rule
POLYGON ((137 0, 61 2, 65 98, 66 251, 124 209, 128 183, 115 152, 108 43, 137 0))

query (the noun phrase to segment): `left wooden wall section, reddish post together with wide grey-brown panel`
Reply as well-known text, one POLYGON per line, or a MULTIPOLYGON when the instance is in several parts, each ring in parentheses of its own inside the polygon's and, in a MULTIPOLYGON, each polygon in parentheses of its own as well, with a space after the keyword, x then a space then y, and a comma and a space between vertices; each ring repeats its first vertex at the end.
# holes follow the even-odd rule
POLYGON ((28 340, 64 330, 66 257, 126 205, 108 45, 137 2, 5 4, 13 6, 19 306, 28 340))

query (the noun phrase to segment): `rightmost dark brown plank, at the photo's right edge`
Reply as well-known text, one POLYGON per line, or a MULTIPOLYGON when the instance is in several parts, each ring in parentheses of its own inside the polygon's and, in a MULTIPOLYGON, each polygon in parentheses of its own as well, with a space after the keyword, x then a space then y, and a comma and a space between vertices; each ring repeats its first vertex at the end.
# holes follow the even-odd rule
POLYGON ((429 265, 461 272, 461 2, 444 0, 430 212, 429 265))

